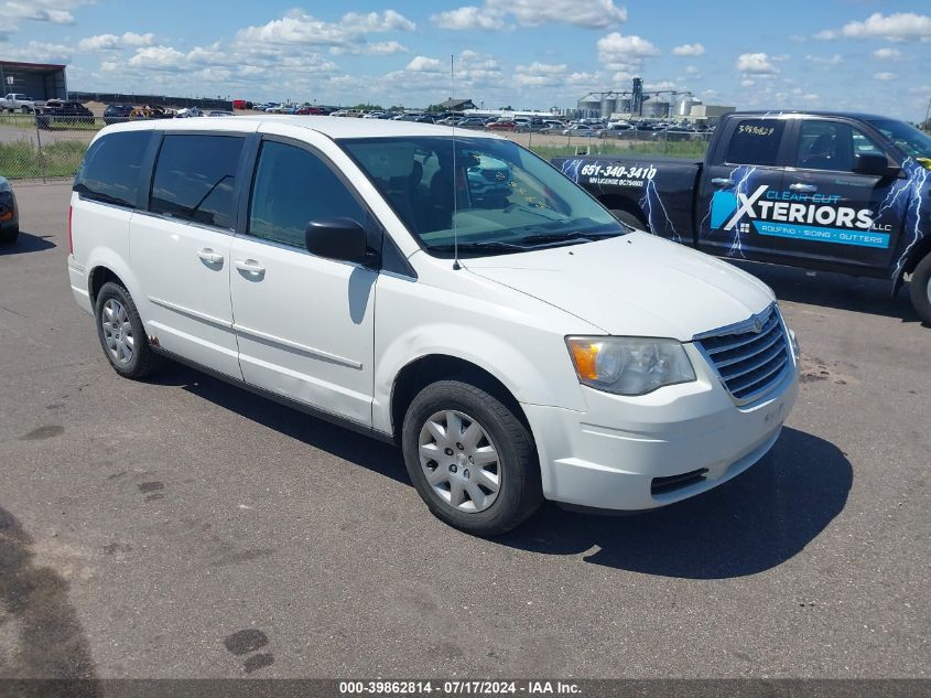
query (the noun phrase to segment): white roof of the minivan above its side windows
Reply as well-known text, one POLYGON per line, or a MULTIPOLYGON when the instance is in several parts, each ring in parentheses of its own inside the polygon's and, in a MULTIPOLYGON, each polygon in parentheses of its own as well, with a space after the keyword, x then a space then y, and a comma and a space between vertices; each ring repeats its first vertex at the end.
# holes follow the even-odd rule
MULTIPOLYGON (((345 117, 324 116, 292 116, 292 115, 250 115, 237 116, 232 119, 188 118, 188 119, 152 119, 132 121, 108 126, 101 133, 132 130, 164 130, 164 131, 242 131, 255 132, 261 124, 286 124, 317 131, 334 140, 344 138, 412 138, 423 136, 450 137, 453 132, 448 126, 419 124, 416 121, 394 121, 381 119, 354 119, 345 117)), ((462 131, 461 131, 462 133, 462 131)), ((468 138, 500 138, 494 133, 468 131, 462 133, 468 138)))

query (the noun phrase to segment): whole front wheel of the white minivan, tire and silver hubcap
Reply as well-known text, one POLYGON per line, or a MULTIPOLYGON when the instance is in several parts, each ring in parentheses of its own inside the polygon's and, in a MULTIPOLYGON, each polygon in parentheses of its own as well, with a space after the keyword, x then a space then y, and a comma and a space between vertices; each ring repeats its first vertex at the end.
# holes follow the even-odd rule
POLYGON ((440 380, 413 399, 401 445, 418 494, 439 519, 477 536, 523 523, 543 501, 527 427, 494 395, 440 380))

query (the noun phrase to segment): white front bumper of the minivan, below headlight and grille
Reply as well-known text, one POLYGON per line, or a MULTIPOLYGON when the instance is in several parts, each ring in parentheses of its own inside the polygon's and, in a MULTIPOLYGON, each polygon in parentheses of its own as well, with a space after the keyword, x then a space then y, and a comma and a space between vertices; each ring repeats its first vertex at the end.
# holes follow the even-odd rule
POLYGON ((582 386, 586 411, 521 407, 537 442, 548 500, 649 509, 694 496, 759 461, 798 394, 798 363, 765 398, 738 407, 693 344, 697 380, 639 397, 582 386))

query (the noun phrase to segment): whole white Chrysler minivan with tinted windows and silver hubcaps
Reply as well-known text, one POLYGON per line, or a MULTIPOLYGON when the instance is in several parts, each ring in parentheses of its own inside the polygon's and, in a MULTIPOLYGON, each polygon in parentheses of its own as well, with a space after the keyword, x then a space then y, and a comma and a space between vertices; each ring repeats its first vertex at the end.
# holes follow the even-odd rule
POLYGON ((649 509, 776 442, 799 354, 770 289, 618 223, 496 136, 302 117, 111 126, 68 273, 104 353, 167 356, 397 442, 478 535, 545 500, 649 509))

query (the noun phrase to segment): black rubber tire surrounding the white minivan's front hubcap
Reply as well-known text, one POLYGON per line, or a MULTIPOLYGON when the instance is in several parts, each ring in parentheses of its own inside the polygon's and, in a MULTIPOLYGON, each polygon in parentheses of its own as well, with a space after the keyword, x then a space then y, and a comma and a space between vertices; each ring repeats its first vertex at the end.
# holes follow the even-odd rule
MULTIPOLYGON (((404 416, 401 445, 408 473, 418 494, 439 519, 476 536, 497 536, 520 525, 543 502, 540 462, 533 438, 515 414, 490 393, 463 380, 440 380, 413 399, 404 416), (437 494, 420 463, 420 432, 435 412, 457 410, 490 437, 497 450, 500 488, 494 503, 480 512, 464 512, 437 494)), ((447 464, 437 468, 450 468, 447 464)))

